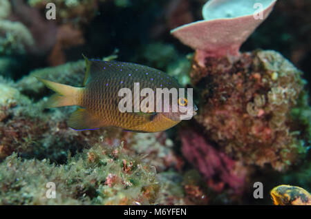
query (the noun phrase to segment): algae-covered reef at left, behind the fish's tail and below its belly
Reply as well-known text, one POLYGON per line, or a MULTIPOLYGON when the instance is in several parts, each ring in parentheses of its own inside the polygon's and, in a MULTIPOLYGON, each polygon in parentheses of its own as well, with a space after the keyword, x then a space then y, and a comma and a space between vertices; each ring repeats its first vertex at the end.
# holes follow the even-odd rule
POLYGON ((85 62, 77 61, 36 70, 17 83, 1 79, 1 204, 206 202, 201 186, 187 184, 178 174, 183 160, 165 133, 139 134, 114 128, 76 132, 66 125, 73 109, 43 110, 48 93, 33 75, 79 85, 84 68, 85 62), (48 182, 57 185, 57 194, 62 193, 57 199, 46 198, 48 182), (192 193, 197 195, 192 197, 192 193))

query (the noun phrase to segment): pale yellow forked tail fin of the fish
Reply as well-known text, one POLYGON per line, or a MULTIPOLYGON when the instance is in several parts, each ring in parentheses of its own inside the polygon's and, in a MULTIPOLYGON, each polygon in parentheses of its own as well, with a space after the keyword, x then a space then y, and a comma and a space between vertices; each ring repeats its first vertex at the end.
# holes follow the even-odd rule
POLYGON ((79 92, 83 88, 80 87, 72 87, 70 85, 63 85, 61 83, 56 83, 53 81, 48 81, 46 79, 40 79, 36 76, 36 78, 44 83, 46 87, 54 90, 56 94, 53 94, 48 101, 46 102, 46 108, 53 108, 53 107, 63 107, 67 105, 78 105, 79 101, 79 92))

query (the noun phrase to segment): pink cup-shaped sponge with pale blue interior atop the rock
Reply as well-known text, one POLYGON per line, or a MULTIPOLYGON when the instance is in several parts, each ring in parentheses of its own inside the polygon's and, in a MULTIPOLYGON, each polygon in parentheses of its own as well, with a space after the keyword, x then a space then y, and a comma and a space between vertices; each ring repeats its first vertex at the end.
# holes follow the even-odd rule
POLYGON ((182 25, 171 34, 204 56, 236 56, 275 3, 276 0, 210 0, 202 8, 205 20, 182 25))

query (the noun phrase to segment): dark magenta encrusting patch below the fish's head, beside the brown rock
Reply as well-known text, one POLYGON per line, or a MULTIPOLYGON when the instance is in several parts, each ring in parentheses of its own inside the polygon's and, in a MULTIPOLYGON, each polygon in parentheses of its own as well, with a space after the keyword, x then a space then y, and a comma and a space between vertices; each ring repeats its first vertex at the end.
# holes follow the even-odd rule
POLYGON ((215 149, 197 132, 182 130, 180 136, 182 154, 199 169, 211 189, 220 192, 229 186, 236 194, 243 191, 247 171, 241 163, 215 149))

